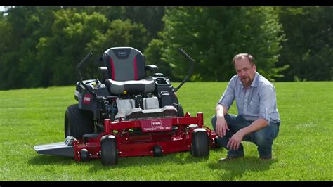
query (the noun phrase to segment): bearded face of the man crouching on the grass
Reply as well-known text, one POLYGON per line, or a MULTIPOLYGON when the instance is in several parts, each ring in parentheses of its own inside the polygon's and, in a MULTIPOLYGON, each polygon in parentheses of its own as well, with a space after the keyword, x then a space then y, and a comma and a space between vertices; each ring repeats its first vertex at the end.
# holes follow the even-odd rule
POLYGON ((256 65, 250 63, 246 56, 242 56, 242 58, 235 60, 235 69, 243 86, 250 86, 254 79, 254 75, 256 75, 256 65))

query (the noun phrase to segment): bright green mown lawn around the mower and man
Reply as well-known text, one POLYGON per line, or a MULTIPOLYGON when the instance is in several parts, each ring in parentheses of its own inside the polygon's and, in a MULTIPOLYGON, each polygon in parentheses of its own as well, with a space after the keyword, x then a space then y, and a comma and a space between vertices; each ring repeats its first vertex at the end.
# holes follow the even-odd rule
MULTIPOLYGON (((245 157, 218 163, 226 150, 209 158, 189 152, 163 157, 122 157, 115 167, 100 160, 76 162, 38 155, 33 147, 64 141, 64 115, 74 85, 0 91, 0 181, 332 181, 333 82, 276 82, 282 123, 271 161, 244 142, 245 157)), ((176 84, 175 84, 176 85, 176 84)), ((186 83, 177 96, 185 112, 211 116, 226 82, 186 83)), ((235 103, 230 113, 237 114, 235 103)))

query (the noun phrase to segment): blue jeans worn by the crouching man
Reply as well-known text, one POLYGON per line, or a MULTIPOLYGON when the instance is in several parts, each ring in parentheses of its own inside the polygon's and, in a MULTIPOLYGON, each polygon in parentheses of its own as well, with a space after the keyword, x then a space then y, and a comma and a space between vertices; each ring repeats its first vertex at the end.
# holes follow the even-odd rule
MULTIPOLYGON (((219 146, 228 150, 228 157, 241 157, 244 156, 244 147, 240 143, 240 147, 237 150, 229 150, 227 144, 229 138, 233 136, 240 129, 249 126, 253 121, 247 121, 240 115, 224 115, 230 131, 226 131, 226 136, 217 137, 217 143, 219 146)), ((211 124, 213 125, 214 131, 216 128, 216 115, 211 118, 211 124)), ((259 157, 272 157, 272 145, 273 140, 278 136, 280 123, 270 122, 270 125, 254 131, 244 136, 243 141, 250 141, 258 146, 259 157)))

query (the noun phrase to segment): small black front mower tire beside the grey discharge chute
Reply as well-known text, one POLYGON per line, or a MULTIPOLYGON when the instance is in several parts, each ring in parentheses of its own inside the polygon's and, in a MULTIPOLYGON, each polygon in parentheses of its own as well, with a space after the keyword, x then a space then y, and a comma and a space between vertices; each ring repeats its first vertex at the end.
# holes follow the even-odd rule
POLYGON ((102 165, 117 165, 117 140, 113 135, 105 135, 100 138, 100 157, 102 165))

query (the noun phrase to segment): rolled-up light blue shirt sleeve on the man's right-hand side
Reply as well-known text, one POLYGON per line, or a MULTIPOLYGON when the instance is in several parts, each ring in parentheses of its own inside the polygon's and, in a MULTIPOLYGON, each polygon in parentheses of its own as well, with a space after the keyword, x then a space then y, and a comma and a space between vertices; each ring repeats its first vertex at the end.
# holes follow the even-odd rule
POLYGON ((264 85, 259 91, 259 117, 266 119, 270 124, 270 113, 274 110, 275 89, 272 85, 264 85))

